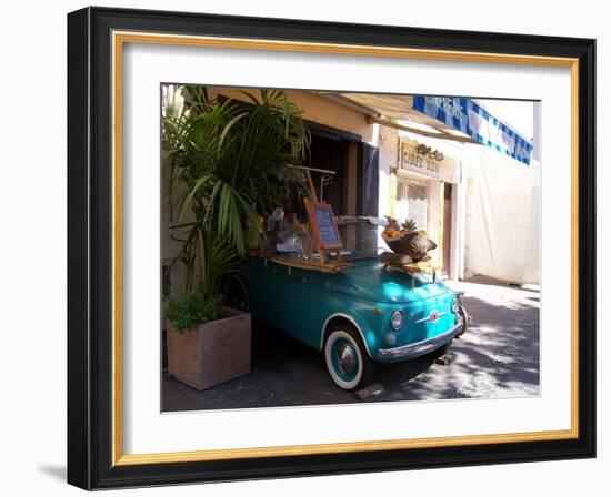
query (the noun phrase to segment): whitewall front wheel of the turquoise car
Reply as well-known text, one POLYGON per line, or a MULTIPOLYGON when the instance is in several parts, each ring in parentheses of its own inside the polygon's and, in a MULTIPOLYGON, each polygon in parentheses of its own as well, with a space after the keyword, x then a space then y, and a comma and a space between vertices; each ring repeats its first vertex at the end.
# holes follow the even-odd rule
POLYGON ((351 324, 331 328, 324 344, 324 359, 329 375, 344 390, 363 388, 373 381, 375 366, 351 324))

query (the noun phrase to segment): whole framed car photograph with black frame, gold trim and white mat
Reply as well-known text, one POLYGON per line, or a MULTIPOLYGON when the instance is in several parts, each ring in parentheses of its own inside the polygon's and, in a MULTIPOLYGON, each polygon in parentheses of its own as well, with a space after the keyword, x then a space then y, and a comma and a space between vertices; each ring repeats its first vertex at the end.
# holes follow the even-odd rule
POLYGON ((68 16, 68 480, 595 456, 594 40, 68 16))

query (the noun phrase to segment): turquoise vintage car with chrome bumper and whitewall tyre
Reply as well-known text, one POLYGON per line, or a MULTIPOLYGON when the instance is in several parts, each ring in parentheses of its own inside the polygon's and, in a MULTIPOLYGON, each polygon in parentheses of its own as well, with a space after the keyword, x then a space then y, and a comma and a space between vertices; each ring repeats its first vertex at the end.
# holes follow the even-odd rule
POLYGON ((467 318, 460 295, 434 275, 380 261, 382 220, 338 217, 343 272, 248 257, 228 288, 230 303, 266 326, 324 352, 334 383, 353 390, 373 379, 375 363, 408 361, 450 346, 467 318))

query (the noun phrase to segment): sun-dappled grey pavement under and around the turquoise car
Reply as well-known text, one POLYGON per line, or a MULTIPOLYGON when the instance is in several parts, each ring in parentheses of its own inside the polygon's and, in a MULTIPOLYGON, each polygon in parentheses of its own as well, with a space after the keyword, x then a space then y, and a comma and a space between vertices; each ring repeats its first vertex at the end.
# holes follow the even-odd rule
POLYGON ((204 392, 164 374, 163 410, 539 395, 539 292, 490 283, 448 282, 464 291, 472 316, 448 365, 433 357, 378 365, 375 383, 354 395, 334 386, 322 354, 258 329, 251 374, 204 392))

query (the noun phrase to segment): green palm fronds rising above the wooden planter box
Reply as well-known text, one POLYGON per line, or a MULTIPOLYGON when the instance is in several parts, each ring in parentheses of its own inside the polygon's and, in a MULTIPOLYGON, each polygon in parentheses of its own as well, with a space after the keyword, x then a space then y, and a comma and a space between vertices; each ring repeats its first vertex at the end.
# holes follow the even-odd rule
POLYGON ((162 133, 178 211, 172 237, 180 243, 169 267, 183 263, 186 291, 212 297, 244 254, 246 222, 258 225, 258 212, 282 205, 291 189, 304 189, 299 171, 287 164, 304 159, 310 134, 282 91, 262 90, 260 98, 242 92, 248 104, 210 100, 202 87, 176 91, 184 97, 183 109, 166 112, 162 133))

